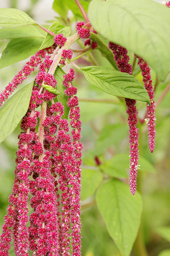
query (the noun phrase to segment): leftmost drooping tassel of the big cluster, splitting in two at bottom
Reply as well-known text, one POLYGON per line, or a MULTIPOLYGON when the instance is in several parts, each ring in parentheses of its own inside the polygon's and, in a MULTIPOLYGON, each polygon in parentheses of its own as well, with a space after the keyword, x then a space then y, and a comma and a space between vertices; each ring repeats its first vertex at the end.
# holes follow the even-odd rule
POLYGON ((1 235, 0 255, 9 255, 11 241, 11 231, 13 227, 15 254, 18 256, 28 256, 28 193, 29 176, 31 173, 32 143, 37 139, 35 126, 37 125, 38 112, 35 111, 37 104, 34 104, 35 96, 33 87, 30 99, 30 107, 23 118, 21 128, 23 130, 19 136, 19 149, 17 151, 15 180, 13 192, 9 196, 10 205, 5 216, 5 224, 1 235), (34 106, 34 107, 33 107, 34 106))

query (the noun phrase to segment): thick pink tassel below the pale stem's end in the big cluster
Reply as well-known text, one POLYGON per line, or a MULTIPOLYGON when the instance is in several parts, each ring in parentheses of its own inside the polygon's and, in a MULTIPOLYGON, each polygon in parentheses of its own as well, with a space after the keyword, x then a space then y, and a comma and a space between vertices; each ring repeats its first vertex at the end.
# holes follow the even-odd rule
MULTIPOLYGON (((40 154, 40 152, 39 152, 40 154)), ((42 162, 35 160, 32 167, 35 182, 31 182, 31 207, 29 240, 35 255, 58 254, 57 198, 52 176, 50 154, 46 151, 42 162)))

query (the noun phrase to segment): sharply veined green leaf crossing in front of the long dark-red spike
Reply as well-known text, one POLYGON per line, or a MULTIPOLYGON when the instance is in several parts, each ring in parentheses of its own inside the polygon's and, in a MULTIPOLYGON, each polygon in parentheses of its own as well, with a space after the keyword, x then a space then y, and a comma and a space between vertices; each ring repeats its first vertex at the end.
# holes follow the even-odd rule
POLYGON ((100 90, 111 95, 140 100, 150 104, 147 90, 133 75, 100 66, 87 66, 81 69, 87 81, 100 90))

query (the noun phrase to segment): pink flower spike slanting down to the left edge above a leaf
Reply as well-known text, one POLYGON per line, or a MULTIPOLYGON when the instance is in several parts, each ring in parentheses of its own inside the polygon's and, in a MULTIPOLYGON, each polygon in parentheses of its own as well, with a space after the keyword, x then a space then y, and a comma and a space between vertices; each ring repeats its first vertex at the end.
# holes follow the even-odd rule
POLYGON ((37 53, 30 58, 30 61, 25 64, 23 69, 19 71, 17 75, 15 75, 13 80, 5 87, 5 90, 3 90, 0 94, 0 106, 18 87, 18 84, 21 84, 32 72, 34 72, 35 67, 37 67, 38 64, 41 63, 41 58, 44 58, 45 54, 45 50, 37 51, 37 53))

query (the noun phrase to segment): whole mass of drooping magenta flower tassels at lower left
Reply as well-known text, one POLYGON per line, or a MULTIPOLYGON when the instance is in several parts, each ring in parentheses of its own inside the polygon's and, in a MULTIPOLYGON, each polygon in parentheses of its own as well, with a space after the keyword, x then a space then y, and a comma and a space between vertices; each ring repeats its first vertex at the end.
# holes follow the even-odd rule
MULTIPOLYGON (((65 39, 57 35, 55 43, 62 46, 65 39)), ((42 83, 51 87, 57 85, 54 76, 48 73, 52 64, 50 54, 53 49, 46 51, 49 55, 43 54, 44 62, 39 56, 42 56, 42 51, 35 54, 39 58, 40 67, 32 88, 28 112, 21 122, 15 179, 2 227, 0 256, 9 255, 12 235, 17 256, 28 256, 28 247, 37 256, 70 255, 71 237, 72 255, 81 254, 82 144, 80 108, 75 96, 77 88, 72 86, 75 72, 70 69, 70 72, 64 75, 63 82, 65 95, 68 96, 67 105, 70 107, 69 124, 68 120, 62 118, 63 105, 55 102, 55 95, 42 87, 42 83), (40 114, 37 108, 43 106, 44 102, 47 102, 47 108, 40 114), (32 195, 30 206, 33 210, 30 218, 29 195, 32 195)), ((63 61, 71 57, 70 49, 62 51, 63 61)), ((33 59, 32 57, 31 60, 33 59)))

